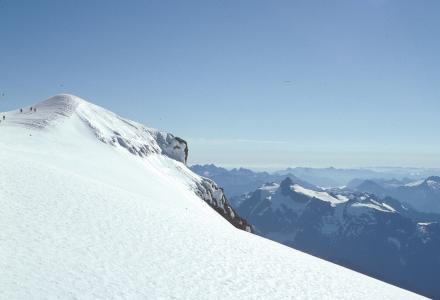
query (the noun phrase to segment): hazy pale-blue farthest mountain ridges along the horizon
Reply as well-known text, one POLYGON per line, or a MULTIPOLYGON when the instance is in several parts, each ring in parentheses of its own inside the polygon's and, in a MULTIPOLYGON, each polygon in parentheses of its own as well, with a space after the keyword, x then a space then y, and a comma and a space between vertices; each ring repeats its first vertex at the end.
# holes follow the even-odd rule
POLYGON ((217 182, 235 207, 238 203, 234 201, 241 201, 238 196, 254 191, 265 183, 280 183, 289 177, 303 187, 311 189, 347 188, 381 198, 389 196, 420 212, 440 213, 440 176, 421 177, 429 171, 435 173, 437 169, 288 168, 269 173, 245 168, 228 170, 213 164, 193 165, 190 169, 217 182))

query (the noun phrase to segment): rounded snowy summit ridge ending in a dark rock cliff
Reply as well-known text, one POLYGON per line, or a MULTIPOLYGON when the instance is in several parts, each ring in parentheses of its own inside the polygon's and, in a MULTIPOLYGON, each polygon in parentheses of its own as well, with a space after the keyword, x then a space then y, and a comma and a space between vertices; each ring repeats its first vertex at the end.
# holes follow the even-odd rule
POLYGON ((80 123, 101 142, 122 147, 140 157, 164 154, 182 163, 188 158, 188 145, 183 139, 122 118, 74 95, 56 95, 36 105, 7 112, 5 117, 4 126, 28 129, 62 127, 66 122, 80 123))

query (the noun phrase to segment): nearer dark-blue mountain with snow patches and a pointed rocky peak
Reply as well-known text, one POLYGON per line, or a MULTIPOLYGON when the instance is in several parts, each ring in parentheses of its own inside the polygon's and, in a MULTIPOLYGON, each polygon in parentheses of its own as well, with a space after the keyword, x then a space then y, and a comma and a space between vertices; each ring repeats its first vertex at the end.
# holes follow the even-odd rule
POLYGON ((340 189, 308 189, 286 178, 232 202, 264 237, 440 297, 440 223, 424 222, 423 214, 397 200, 340 189))

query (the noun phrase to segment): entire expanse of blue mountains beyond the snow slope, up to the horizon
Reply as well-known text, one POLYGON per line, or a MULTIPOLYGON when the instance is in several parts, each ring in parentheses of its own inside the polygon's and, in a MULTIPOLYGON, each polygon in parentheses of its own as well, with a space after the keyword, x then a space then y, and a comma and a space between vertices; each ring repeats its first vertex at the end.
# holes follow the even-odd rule
POLYGON ((440 202, 439 177, 419 179, 424 173, 414 169, 191 169, 224 187, 231 205, 257 234, 440 297, 440 214, 433 213, 440 202), (319 187, 330 183, 327 179, 342 186, 319 187))

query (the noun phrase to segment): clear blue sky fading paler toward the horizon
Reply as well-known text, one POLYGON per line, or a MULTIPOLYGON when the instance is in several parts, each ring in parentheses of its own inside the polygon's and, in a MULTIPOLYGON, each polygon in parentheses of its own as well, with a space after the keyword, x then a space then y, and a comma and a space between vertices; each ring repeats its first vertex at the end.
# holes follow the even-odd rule
POLYGON ((440 167, 439 53, 436 0, 0 0, 0 111, 72 93, 191 163, 440 167))

